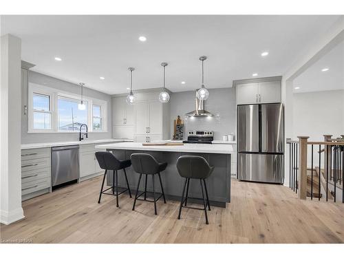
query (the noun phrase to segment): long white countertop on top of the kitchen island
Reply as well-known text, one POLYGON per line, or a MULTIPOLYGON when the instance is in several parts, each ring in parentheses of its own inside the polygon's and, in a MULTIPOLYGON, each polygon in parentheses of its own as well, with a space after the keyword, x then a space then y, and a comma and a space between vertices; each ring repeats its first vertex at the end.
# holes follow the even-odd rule
POLYGON ((142 142, 119 142, 115 144, 96 145, 96 149, 124 149, 133 151, 172 151, 172 152, 191 152, 191 153, 235 153, 231 144, 195 144, 185 143, 184 145, 166 146, 153 145, 144 146, 142 142))

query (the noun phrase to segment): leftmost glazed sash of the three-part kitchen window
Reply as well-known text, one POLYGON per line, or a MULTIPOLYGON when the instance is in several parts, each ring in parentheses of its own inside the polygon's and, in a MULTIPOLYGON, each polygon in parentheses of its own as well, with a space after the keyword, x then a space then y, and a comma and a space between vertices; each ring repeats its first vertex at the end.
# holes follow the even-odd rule
POLYGON ((33 129, 52 129, 52 112, 50 111, 50 96, 43 94, 32 95, 33 129))

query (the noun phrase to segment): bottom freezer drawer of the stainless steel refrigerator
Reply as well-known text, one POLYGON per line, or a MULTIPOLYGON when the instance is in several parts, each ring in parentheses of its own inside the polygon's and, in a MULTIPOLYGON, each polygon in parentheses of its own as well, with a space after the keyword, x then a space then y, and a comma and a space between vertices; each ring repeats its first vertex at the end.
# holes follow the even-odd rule
POLYGON ((238 154, 238 179, 283 184, 283 154, 238 154))

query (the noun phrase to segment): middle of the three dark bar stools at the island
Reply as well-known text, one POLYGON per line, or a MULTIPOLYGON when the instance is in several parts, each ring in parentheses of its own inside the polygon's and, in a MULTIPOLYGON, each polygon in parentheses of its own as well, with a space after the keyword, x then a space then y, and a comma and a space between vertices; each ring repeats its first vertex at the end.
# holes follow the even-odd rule
POLYGON ((167 163, 159 163, 155 158, 147 153, 133 153, 130 156, 131 164, 133 164, 133 169, 137 173, 140 174, 140 178, 138 178, 138 187, 136 189, 136 195, 135 199, 133 200, 133 211, 135 211, 135 204, 136 200, 141 200, 145 202, 154 202, 154 213, 157 215, 157 210, 156 210, 156 202, 160 199, 160 197, 164 198, 164 203, 166 204, 166 199, 164 195, 164 188, 162 187, 162 182, 161 182, 161 176, 160 172, 164 171, 166 169, 167 163), (142 178, 142 174, 146 175, 146 181, 144 182, 144 192, 138 195, 138 189, 140 188, 140 181, 142 178), (162 193, 158 198, 156 198, 155 195, 155 184, 154 184, 154 175, 158 174, 159 176, 159 181, 160 181, 160 187, 162 193), (153 181, 153 194, 154 194, 154 200, 147 200, 147 177, 148 175, 151 175, 152 181, 153 181), (144 199, 138 199, 141 195, 144 194, 144 199))

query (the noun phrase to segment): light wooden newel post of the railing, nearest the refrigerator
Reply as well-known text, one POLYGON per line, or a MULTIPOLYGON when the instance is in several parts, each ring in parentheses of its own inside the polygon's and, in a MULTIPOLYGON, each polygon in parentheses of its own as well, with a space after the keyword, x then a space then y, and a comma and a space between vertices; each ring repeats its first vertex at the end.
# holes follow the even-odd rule
POLYGON ((299 138, 299 175, 297 178, 299 199, 305 200, 307 197, 307 142, 308 136, 297 136, 299 138))

